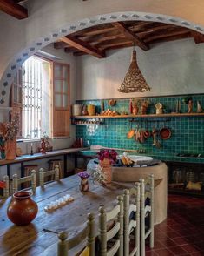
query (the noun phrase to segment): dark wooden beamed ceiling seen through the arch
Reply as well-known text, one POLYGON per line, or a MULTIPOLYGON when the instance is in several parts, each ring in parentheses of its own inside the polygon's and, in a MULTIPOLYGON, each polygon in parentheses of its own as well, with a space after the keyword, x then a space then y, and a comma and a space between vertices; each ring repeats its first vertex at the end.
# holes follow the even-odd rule
POLYGON ((194 37, 196 44, 204 43, 204 35, 188 28, 159 22, 127 21, 100 24, 76 31, 60 42, 56 49, 64 49, 75 56, 91 54, 105 57, 105 51, 138 45, 144 51, 149 45, 194 37))

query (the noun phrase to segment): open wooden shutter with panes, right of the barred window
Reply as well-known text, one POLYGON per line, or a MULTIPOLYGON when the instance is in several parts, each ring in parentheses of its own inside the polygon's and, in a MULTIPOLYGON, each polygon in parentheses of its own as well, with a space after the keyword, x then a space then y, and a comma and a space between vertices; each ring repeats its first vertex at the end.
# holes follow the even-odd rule
POLYGON ((70 135, 69 78, 69 64, 53 63, 53 138, 69 138, 70 135))

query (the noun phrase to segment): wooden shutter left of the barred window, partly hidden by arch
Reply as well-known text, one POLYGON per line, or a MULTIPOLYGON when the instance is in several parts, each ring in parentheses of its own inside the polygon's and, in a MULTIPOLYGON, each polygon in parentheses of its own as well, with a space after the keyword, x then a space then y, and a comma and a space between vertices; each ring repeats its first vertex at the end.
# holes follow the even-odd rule
POLYGON ((10 106, 12 111, 10 112, 10 120, 12 120, 15 114, 19 116, 19 131, 17 134, 17 139, 22 138, 22 109, 23 109, 23 71, 20 68, 16 77, 14 78, 13 84, 11 84, 10 91, 10 106))

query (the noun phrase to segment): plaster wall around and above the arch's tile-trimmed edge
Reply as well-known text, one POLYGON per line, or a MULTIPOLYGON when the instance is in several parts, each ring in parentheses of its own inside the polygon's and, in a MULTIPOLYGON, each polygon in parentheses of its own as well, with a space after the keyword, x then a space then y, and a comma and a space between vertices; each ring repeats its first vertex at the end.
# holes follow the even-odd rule
POLYGON ((0 14, 0 77, 18 52, 33 45, 38 38, 49 36, 84 18, 131 10, 181 17, 204 25, 202 0, 32 0, 28 2, 28 10, 29 18, 23 20, 0 14))

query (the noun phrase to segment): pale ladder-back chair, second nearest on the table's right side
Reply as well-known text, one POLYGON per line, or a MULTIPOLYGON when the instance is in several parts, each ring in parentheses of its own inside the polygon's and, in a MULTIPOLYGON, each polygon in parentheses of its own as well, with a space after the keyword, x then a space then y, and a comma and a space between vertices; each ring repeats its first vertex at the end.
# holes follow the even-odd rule
POLYGON ((103 207, 99 208, 100 256, 112 256, 115 253, 123 255, 123 197, 119 196, 117 199, 117 205, 110 212, 106 212, 103 207), (108 231, 107 226, 113 220, 114 226, 108 231), (112 244, 109 249, 108 242, 112 244))

